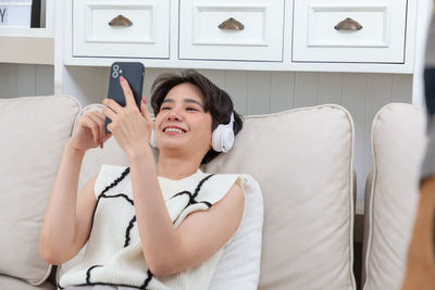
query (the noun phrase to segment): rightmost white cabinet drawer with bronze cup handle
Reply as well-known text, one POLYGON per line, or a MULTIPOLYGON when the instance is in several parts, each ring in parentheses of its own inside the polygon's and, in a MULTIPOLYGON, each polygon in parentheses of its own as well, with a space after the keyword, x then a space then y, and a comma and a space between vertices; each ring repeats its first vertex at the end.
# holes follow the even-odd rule
POLYGON ((407 0, 295 0, 295 62, 403 63, 407 0))

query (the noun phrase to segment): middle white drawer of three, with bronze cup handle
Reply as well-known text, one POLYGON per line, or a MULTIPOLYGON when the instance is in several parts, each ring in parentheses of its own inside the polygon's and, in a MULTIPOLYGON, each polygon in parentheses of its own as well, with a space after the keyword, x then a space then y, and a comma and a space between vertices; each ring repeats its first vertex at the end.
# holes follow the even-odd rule
POLYGON ((186 0, 179 9, 179 59, 283 59, 284 0, 186 0))

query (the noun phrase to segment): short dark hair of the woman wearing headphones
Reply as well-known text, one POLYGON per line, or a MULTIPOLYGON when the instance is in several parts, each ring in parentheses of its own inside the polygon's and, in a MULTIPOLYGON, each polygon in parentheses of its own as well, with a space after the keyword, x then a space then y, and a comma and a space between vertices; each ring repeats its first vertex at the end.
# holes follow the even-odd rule
MULTIPOLYGON (((167 92, 175 86, 185 83, 198 87, 204 96, 204 111, 210 111, 212 117, 212 130, 214 130, 220 124, 228 124, 232 113, 234 113, 234 135, 237 135, 241 130, 244 122, 241 116, 234 111, 233 100, 229 94, 195 70, 183 71, 179 75, 165 73, 156 78, 151 87, 151 106, 154 115, 159 113, 160 106, 164 98, 166 98, 167 92)), ((211 149, 202 159, 201 164, 210 162, 219 154, 220 152, 211 149)))

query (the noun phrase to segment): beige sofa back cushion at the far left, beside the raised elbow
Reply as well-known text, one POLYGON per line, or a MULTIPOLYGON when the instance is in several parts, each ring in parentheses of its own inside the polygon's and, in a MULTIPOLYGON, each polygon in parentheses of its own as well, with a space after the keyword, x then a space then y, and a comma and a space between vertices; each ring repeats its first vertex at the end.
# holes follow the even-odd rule
POLYGON ((39 256, 39 231, 79 110, 67 96, 0 100, 0 274, 32 285, 50 274, 39 256))

